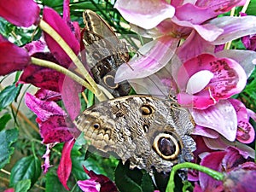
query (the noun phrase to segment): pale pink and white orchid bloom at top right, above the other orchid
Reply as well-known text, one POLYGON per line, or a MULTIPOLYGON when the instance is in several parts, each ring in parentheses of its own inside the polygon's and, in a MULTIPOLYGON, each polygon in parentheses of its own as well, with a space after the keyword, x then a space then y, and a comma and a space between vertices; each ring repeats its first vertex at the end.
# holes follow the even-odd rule
POLYGON ((201 1, 195 4, 175 1, 168 4, 159 0, 154 3, 143 0, 127 3, 119 0, 115 4, 115 8, 131 24, 149 29, 143 31, 139 28, 138 33, 154 38, 154 41, 139 49, 142 56, 137 58, 136 55, 129 61, 131 67, 126 64, 119 67, 116 82, 148 77, 165 67, 175 53, 180 61, 187 61, 201 53, 213 54, 215 44, 224 44, 256 32, 252 26, 256 17, 212 19, 245 1, 201 1), (151 21, 147 22, 148 19, 151 21), (210 21, 205 22, 206 20, 210 21), (186 41, 177 49, 179 40, 183 38, 186 41))

